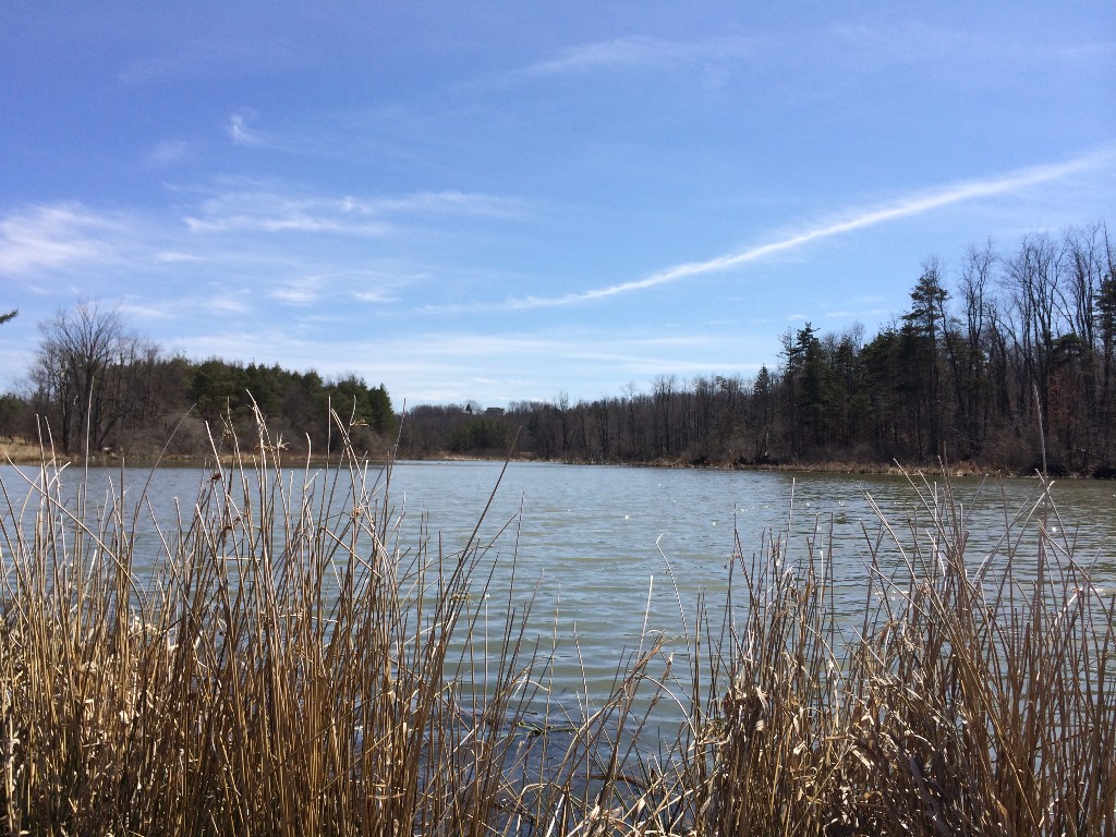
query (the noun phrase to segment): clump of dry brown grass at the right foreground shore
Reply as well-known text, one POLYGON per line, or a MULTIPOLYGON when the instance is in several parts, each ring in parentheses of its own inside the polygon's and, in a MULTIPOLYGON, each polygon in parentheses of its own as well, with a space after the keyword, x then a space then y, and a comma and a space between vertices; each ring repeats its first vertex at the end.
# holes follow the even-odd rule
POLYGON ((721 646, 709 833, 1116 833, 1114 595, 1045 489, 979 567, 947 484, 908 538, 881 513, 855 629, 829 568, 770 540, 721 646))

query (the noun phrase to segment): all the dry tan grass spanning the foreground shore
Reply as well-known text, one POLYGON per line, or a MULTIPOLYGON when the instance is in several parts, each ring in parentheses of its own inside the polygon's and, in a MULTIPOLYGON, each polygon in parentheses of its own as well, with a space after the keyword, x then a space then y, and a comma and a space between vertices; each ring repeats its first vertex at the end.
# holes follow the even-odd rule
POLYGON ((6 487, 9 834, 1116 833, 1114 603, 1048 492, 970 566, 949 485, 912 482, 921 517, 866 529, 853 622, 816 545, 738 543, 686 653, 645 636, 571 704, 529 587, 485 599, 516 566, 480 522, 408 541, 389 466, 260 442, 145 522, 157 556, 123 487, 67 500, 48 455, 6 487))

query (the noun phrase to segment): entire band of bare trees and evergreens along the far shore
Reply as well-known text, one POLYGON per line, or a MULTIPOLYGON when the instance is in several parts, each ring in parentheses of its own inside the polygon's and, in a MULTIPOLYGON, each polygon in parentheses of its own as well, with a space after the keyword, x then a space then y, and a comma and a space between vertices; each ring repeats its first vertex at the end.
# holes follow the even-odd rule
POLYGON ((254 439, 253 404, 291 451, 328 453, 340 419, 358 450, 401 458, 517 455, 694 465, 971 462, 1110 475, 1116 466, 1116 253, 1104 223, 1032 234, 1011 252, 971 247, 927 260, 910 306, 870 338, 809 323, 754 377, 650 392, 395 415, 381 385, 350 375, 167 357, 88 304, 41 324, 27 392, 0 398, 0 434, 57 450, 204 454, 254 439), (40 417, 45 421, 40 421, 40 417))

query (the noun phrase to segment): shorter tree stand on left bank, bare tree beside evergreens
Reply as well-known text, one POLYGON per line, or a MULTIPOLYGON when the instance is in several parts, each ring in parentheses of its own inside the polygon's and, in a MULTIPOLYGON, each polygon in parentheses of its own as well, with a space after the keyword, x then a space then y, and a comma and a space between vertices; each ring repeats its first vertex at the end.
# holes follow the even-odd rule
POLYGON ((383 385, 356 375, 323 378, 279 365, 167 355, 116 310, 79 302, 39 325, 41 340, 25 394, 0 396, 0 434, 41 439, 65 454, 206 455, 237 440, 328 453, 337 423, 358 449, 382 452, 396 417, 383 385))

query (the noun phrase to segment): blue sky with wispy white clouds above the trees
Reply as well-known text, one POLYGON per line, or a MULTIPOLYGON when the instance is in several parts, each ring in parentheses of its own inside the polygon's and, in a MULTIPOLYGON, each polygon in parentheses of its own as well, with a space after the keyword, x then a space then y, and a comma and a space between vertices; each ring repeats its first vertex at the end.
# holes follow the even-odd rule
POLYGON ((79 301, 397 410, 748 378, 1116 224, 1114 103, 1110 0, 6 2, 0 392, 79 301))

